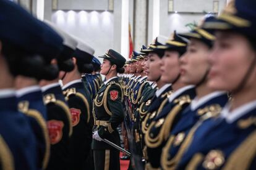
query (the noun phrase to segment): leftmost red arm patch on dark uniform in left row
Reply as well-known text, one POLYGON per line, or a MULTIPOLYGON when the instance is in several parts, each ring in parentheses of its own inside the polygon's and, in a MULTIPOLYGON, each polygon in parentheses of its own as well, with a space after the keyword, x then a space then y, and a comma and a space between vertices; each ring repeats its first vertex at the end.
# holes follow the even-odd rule
POLYGON ((49 139, 52 145, 57 144, 62 139, 62 128, 64 123, 58 120, 47 121, 49 139))

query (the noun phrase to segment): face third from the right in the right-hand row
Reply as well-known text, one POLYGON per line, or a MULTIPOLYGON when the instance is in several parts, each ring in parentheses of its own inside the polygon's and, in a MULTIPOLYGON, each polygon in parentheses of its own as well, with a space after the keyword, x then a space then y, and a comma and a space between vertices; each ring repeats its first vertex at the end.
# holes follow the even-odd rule
POLYGON ((179 76, 179 53, 176 51, 164 51, 161 65, 161 81, 165 83, 173 83, 173 81, 179 76))

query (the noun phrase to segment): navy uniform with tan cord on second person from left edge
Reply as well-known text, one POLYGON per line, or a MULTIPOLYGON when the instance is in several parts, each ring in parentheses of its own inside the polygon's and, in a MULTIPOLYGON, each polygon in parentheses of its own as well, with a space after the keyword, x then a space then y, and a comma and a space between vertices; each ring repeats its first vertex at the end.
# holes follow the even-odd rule
POLYGON ((20 89, 18 95, 19 110, 27 116, 36 136, 38 168, 45 169, 49 161, 50 144, 46 126, 47 115, 46 107, 43 103, 43 94, 39 86, 30 86, 20 89))

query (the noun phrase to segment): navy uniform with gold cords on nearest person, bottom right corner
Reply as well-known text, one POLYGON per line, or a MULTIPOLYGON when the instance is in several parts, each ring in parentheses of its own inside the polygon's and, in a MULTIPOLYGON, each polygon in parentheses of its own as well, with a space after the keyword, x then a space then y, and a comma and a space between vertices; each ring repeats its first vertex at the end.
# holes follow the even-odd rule
POLYGON ((256 102, 243 107, 234 113, 224 107, 218 118, 203 121, 177 169, 255 169, 256 102))

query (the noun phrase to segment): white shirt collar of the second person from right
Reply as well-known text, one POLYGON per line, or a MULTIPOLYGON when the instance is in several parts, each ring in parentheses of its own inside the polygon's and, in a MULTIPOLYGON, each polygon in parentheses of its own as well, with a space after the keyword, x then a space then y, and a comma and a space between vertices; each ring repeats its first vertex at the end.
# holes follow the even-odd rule
POLYGON ((211 92, 210 94, 207 94, 207 95, 201 97, 200 99, 197 99, 197 97, 195 97, 195 99, 192 100, 192 102, 190 103, 190 108, 191 108, 191 110, 196 110, 198 107, 200 107, 204 103, 206 103, 209 100, 211 100, 215 97, 218 97, 224 93, 225 93, 224 91, 216 91, 216 92, 211 92))

